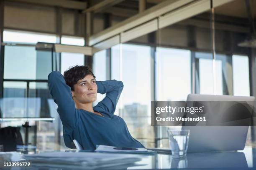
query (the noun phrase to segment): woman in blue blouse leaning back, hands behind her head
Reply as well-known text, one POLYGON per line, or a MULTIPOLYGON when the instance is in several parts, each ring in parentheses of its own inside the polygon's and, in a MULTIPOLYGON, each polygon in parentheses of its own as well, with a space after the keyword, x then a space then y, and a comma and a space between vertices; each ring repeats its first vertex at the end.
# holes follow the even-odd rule
POLYGON ((65 71, 64 77, 60 72, 51 72, 48 83, 58 105, 67 147, 73 148, 76 139, 83 149, 95 149, 96 145, 144 148, 131 136, 125 121, 114 115, 123 82, 95 81, 89 66, 77 65, 65 71), (106 97, 92 107, 97 92, 106 93, 106 97))

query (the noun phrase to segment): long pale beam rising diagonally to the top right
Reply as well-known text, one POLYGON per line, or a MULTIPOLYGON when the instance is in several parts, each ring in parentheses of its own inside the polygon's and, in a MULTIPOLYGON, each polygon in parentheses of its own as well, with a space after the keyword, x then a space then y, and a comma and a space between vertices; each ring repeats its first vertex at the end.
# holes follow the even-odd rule
MULTIPOLYGON (((233 0, 215 0, 213 1, 213 6, 217 7, 231 1, 233 0)), ((166 0, 110 28, 91 35, 89 37, 89 46, 95 46, 97 43, 134 29, 155 18, 159 18, 159 28, 164 28, 206 10, 210 10, 210 0, 166 0)))

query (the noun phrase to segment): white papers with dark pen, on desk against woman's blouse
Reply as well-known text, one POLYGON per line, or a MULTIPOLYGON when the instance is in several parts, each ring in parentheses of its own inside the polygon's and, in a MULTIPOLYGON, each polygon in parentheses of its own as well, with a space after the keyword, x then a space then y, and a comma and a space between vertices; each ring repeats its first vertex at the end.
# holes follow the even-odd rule
POLYGON ((115 149, 114 146, 106 146, 106 145, 98 145, 95 152, 108 152, 108 153, 143 153, 143 154, 151 154, 155 153, 152 150, 147 150, 146 148, 136 148, 136 150, 120 150, 115 149))

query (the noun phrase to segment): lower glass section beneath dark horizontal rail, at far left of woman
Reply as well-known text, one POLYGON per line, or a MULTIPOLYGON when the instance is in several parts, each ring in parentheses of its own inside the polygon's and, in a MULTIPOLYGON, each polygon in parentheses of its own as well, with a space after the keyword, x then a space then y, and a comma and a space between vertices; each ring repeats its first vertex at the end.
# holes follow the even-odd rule
POLYGON ((2 117, 55 117, 57 107, 47 82, 30 82, 26 89, 27 82, 4 82, 2 117))

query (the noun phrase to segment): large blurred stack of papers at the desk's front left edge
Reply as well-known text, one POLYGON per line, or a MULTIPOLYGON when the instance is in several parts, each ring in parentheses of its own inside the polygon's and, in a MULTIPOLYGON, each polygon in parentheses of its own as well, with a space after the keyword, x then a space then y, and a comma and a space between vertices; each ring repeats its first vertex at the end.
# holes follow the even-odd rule
POLYGON ((52 152, 24 155, 31 165, 67 169, 119 169, 134 166, 140 161, 139 155, 89 152, 52 152))

